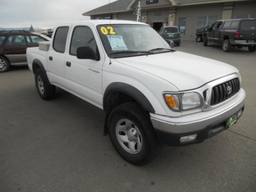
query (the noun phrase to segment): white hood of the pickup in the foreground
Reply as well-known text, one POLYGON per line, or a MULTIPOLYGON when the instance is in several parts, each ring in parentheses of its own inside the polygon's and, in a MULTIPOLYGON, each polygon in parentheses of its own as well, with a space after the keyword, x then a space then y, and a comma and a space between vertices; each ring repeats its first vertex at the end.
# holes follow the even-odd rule
POLYGON ((180 91, 196 89, 215 79, 238 73, 227 63, 179 51, 118 58, 116 61, 165 79, 180 91))

